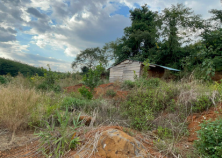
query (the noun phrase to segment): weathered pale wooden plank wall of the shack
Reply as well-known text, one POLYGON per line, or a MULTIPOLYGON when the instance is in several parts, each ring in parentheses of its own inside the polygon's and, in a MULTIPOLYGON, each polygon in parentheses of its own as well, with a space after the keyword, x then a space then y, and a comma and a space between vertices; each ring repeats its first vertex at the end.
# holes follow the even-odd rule
POLYGON ((136 75, 140 76, 140 62, 126 60, 112 68, 110 68, 110 82, 115 82, 116 80, 124 81, 131 80, 134 81, 134 71, 136 75))

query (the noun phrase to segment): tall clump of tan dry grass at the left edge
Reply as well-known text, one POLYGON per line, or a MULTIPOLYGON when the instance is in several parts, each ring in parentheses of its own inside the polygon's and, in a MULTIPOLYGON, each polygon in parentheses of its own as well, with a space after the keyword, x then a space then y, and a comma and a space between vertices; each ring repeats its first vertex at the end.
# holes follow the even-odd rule
POLYGON ((0 87, 0 125, 11 131, 27 128, 28 121, 41 102, 34 89, 9 84, 0 87))

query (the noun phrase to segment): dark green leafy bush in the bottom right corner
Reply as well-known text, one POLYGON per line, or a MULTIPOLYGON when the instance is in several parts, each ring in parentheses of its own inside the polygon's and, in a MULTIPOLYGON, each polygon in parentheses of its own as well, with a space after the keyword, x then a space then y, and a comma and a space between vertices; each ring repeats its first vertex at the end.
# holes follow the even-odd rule
POLYGON ((197 132, 196 149, 204 157, 220 158, 222 155, 222 119, 202 123, 197 132))

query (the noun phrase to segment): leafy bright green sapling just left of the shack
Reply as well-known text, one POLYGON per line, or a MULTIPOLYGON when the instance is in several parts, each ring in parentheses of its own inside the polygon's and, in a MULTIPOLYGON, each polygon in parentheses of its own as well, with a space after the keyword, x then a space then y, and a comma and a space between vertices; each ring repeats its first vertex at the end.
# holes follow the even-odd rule
POLYGON ((94 88, 99 85, 101 74, 104 70, 104 67, 100 63, 95 69, 89 69, 89 72, 83 77, 83 83, 90 88, 91 92, 93 92, 94 88))

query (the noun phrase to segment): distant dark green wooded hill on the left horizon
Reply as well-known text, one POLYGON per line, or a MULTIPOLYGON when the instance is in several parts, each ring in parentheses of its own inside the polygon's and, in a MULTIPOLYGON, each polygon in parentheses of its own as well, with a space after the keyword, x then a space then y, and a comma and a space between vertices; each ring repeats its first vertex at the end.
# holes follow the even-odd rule
POLYGON ((44 75, 41 68, 30 66, 18 61, 0 58, 0 75, 7 75, 10 73, 12 76, 17 76, 18 72, 22 73, 24 76, 35 75, 36 73, 39 76, 44 75))

